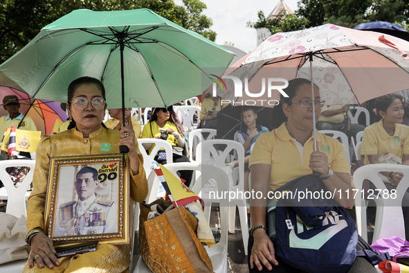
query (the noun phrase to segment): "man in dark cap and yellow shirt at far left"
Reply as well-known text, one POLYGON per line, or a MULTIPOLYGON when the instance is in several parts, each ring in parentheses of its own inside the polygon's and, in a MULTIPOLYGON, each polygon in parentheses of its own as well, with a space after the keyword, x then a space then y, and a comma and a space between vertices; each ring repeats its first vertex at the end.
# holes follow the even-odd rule
POLYGON ((24 117, 24 115, 19 112, 20 103, 17 96, 5 96, 3 98, 3 107, 8 112, 8 115, 0 118, 1 137, 3 137, 6 129, 12 126, 19 130, 37 131, 34 121, 28 116, 24 117))

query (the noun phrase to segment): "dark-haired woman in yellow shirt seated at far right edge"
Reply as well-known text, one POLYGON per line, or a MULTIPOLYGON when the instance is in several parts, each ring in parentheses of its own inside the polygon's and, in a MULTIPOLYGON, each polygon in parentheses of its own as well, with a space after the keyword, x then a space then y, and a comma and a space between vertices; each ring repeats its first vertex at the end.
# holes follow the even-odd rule
MULTIPOLYGON (((378 122, 363 131, 361 155, 365 155, 364 164, 398 163, 409 165, 409 127, 401 124, 403 111, 402 96, 390 94, 376 98, 375 111, 378 122), (389 158, 389 161, 385 159, 389 158)), ((403 173, 383 172, 386 188, 392 190, 403 177, 403 173)), ((402 202, 405 236, 409 239, 409 193, 402 202)))

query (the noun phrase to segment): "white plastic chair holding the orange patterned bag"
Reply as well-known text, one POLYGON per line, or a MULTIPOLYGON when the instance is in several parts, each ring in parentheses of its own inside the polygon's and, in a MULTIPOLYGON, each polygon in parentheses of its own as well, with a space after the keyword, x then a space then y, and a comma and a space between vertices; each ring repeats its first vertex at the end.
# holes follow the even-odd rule
MULTIPOLYGON (((192 186, 192 191, 199 195, 202 186, 206 184, 209 179, 215 179, 217 182, 218 195, 221 196, 222 193, 228 191, 228 177, 223 170, 216 166, 211 166, 208 164, 196 164, 190 162, 166 164, 165 166, 172 173, 176 173, 177 170, 199 170, 201 171, 201 176, 198 177, 196 182, 192 186)), ((154 174, 154 173, 152 173, 154 174)), ((228 200, 219 200, 220 209, 220 228, 221 236, 219 243, 213 245, 211 248, 205 246, 206 251, 212 261, 213 271, 216 273, 227 273, 228 272, 228 258, 227 258, 227 217, 228 217, 228 200)), ((134 273, 151 272, 149 268, 145 265, 143 258, 140 257, 138 263, 136 264, 134 273)))

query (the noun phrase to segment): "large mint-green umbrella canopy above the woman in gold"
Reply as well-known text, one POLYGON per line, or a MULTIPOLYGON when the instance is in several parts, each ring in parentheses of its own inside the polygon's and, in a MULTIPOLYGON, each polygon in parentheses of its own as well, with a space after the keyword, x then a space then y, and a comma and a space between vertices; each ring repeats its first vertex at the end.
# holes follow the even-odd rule
POLYGON ((125 107, 166 107, 201 94, 212 83, 203 69, 226 68, 233 56, 151 10, 75 10, 1 64, 0 84, 66 102, 69 83, 91 76, 110 108, 123 107, 121 91, 125 107))

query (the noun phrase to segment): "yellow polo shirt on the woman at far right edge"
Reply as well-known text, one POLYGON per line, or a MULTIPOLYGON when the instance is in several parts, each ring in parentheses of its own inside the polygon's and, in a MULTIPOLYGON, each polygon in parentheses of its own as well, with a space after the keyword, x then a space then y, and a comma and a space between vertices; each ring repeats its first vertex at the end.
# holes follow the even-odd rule
POLYGON ((390 152, 399 158, 409 155, 409 127, 395 123, 394 134, 390 136, 383 128, 383 119, 365 128, 363 131, 361 155, 365 155, 364 164, 369 163, 368 155, 390 152))

